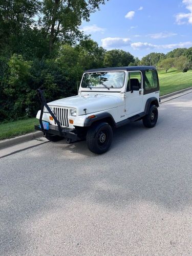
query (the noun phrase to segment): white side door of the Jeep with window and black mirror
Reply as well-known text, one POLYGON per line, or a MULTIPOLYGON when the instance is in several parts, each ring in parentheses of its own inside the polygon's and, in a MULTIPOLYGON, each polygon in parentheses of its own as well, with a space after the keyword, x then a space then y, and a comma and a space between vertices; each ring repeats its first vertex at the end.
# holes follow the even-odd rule
POLYGON ((142 112, 143 79, 140 71, 130 71, 125 93, 125 110, 127 116, 134 116, 142 112))

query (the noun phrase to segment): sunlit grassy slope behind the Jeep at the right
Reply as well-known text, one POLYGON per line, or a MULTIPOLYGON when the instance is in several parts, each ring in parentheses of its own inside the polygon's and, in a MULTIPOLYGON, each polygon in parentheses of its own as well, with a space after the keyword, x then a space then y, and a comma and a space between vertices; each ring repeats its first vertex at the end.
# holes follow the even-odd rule
POLYGON ((192 87, 192 70, 187 73, 178 72, 176 69, 170 69, 167 73, 164 70, 159 70, 158 75, 160 95, 192 87))

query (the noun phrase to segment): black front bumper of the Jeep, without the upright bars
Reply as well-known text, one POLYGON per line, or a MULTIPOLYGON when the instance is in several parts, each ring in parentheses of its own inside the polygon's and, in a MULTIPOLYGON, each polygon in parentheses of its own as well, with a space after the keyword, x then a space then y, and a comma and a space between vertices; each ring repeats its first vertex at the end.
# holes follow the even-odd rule
POLYGON ((58 135, 58 136, 61 136, 63 138, 67 138, 69 143, 73 143, 75 141, 82 140, 82 138, 80 138, 75 133, 76 132, 75 129, 70 129, 68 127, 61 128, 61 134, 59 132, 58 126, 51 125, 51 124, 49 124, 49 130, 43 130, 43 131, 42 131, 40 125, 36 124, 35 125, 35 130, 43 132, 44 135, 51 134, 51 135, 58 135))

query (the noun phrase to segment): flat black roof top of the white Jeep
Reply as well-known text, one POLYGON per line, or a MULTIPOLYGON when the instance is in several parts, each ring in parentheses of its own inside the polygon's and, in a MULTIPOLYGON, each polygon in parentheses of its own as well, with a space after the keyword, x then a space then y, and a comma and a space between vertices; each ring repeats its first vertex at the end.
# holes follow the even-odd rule
POLYGON ((145 71, 153 69, 156 70, 154 66, 133 66, 133 67, 117 67, 117 68, 101 68, 101 69, 90 69, 84 71, 84 73, 88 72, 107 72, 107 71, 135 71, 135 70, 140 70, 140 71, 145 71))

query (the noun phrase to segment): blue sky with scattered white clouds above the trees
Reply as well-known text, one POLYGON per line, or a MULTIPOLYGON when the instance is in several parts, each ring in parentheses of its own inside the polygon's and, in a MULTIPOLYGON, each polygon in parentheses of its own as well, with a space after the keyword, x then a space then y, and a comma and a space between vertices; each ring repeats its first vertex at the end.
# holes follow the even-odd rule
POLYGON ((142 58, 192 46, 192 0, 110 0, 81 29, 106 50, 142 58))

